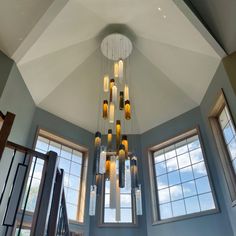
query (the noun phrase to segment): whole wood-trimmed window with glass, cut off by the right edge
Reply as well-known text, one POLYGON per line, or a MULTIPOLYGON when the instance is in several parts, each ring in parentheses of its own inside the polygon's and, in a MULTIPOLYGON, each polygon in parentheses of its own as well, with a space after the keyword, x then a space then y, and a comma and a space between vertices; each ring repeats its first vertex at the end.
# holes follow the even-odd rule
POLYGON ((221 91, 210 116, 232 204, 236 204, 236 129, 229 106, 221 91))

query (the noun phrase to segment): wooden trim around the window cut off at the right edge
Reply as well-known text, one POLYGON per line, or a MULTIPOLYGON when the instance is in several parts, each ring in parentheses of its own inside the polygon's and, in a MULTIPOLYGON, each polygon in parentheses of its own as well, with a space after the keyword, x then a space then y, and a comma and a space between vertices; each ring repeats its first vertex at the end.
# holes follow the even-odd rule
POLYGON ((230 161, 229 152, 222 134, 222 129, 220 127, 218 118, 224 107, 227 107, 229 114, 232 119, 232 124, 236 129, 235 121, 230 110, 229 104, 225 97, 223 89, 220 90, 216 102, 214 106, 210 110, 208 120, 211 126, 211 130, 215 139, 215 143, 218 149, 218 153, 220 156, 220 162, 223 167, 223 172, 225 176, 225 180, 227 183, 227 187, 229 190, 229 195, 231 199, 232 207, 236 206, 236 174, 234 172, 232 163, 230 161))

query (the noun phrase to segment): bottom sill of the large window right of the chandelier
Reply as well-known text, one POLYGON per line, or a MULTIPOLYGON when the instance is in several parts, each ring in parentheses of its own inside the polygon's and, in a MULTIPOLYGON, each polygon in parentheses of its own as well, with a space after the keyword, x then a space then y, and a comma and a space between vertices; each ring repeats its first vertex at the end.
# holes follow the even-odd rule
POLYGON ((197 218, 197 217, 217 214, 219 212, 220 212, 219 209, 216 208, 213 210, 208 210, 208 211, 204 211, 204 212, 197 212, 197 213, 193 213, 193 214, 189 214, 189 215, 185 215, 185 216, 177 216, 177 217, 173 217, 173 218, 169 218, 169 219, 165 219, 165 220, 155 221, 152 223, 152 226, 160 225, 160 224, 174 223, 174 222, 182 221, 182 220, 190 220, 190 219, 197 218))

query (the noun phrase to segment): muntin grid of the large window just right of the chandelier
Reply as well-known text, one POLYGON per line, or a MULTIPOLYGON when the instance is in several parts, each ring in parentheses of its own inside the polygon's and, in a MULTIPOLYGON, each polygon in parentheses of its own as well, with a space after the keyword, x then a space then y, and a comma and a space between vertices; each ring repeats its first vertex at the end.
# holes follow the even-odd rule
MULTIPOLYGON (((196 141, 196 140, 195 140, 195 141, 196 141)), ((192 141, 192 142, 194 142, 194 141, 192 141)), ((203 211, 207 211, 207 210, 214 210, 214 209, 216 209, 215 200, 214 200, 213 193, 212 193, 212 187, 211 187, 210 180, 209 180, 209 177, 208 177, 208 172, 207 172, 207 167, 206 167, 206 164, 205 164, 204 154, 203 154, 203 151, 202 151, 202 147, 201 147, 201 144, 200 144, 200 140, 199 140, 198 134, 195 134, 195 135, 193 135, 193 136, 191 136, 191 137, 187 137, 187 138, 185 138, 184 140, 178 141, 178 142, 176 142, 176 143, 174 143, 174 144, 171 144, 171 145, 169 145, 169 146, 167 146, 167 147, 165 147, 165 148, 162 148, 162 149, 160 149, 160 150, 154 152, 154 154, 153 154, 153 167, 154 167, 154 173, 155 173, 155 186, 156 186, 157 199, 159 199, 158 191, 160 191, 160 190, 165 190, 165 189, 166 189, 166 190, 167 190, 167 189, 169 190, 169 191, 168 191, 168 192, 169 192, 169 201, 166 201, 166 202, 163 202, 163 203, 160 203, 160 202, 158 201, 159 220, 161 220, 161 221, 162 221, 162 220, 169 220, 169 219, 171 219, 171 218, 175 218, 175 217, 178 217, 178 216, 188 216, 189 214, 192 214, 192 213, 199 213, 199 212, 203 212, 203 211), (191 140, 191 139, 194 138, 194 137, 197 137, 197 141, 198 141, 199 144, 198 144, 198 146, 197 146, 196 148, 190 149, 189 146, 190 146, 191 142, 188 142, 188 140, 191 140), (186 150, 185 152, 183 152, 183 153, 177 154, 177 151, 176 151, 176 150, 180 147, 180 146, 177 146, 177 145, 178 145, 179 143, 181 143, 181 142, 185 142, 185 143, 186 143, 187 150, 186 150), (169 147, 174 147, 174 150, 173 150, 172 148, 169 148, 169 147), (165 157, 165 153, 166 153, 166 152, 165 152, 165 149, 168 149, 168 148, 169 148, 169 150, 171 150, 171 152, 173 151, 173 152, 175 153, 175 155, 171 156, 170 158, 166 158, 166 157, 165 157), (192 159, 191 159, 190 153, 193 152, 193 151, 196 151, 196 150, 201 150, 202 160, 201 160, 201 161, 198 161, 198 162, 192 163, 192 159), (160 153, 161 151, 162 151, 162 155, 164 156, 164 160, 161 160, 161 161, 159 161, 159 162, 158 162, 158 161, 155 161, 155 157, 158 156, 158 155, 155 155, 155 153, 158 153, 158 152, 160 153), (181 155, 184 155, 184 154, 187 154, 187 153, 189 154, 190 164, 180 168, 180 167, 179 167, 178 156, 181 156, 181 155), (169 160, 171 160, 171 159, 174 159, 174 158, 176 158, 176 160, 177 160, 177 166, 178 166, 178 167, 177 167, 177 169, 175 169, 175 170, 168 171, 168 170, 167 170, 167 164, 166 164, 166 163, 167 163, 167 161, 169 161, 169 160), (165 163, 166 172, 163 173, 163 174, 157 175, 155 166, 156 166, 157 164, 160 164, 160 163, 165 163), (193 166, 198 165, 198 164, 200 164, 200 163, 203 163, 203 164, 204 164, 206 174, 196 178, 196 177, 194 176, 193 166), (182 181, 182 177, 181 177, 180 171, 183 170, 183 169, 185 169, 185 168, 190 168, 190 167, 191 167, 191 173, 192 173, 193 178, 191 178, 191 179, 189 179, 189 180, 186 180, 186 181, 182 181), (169 181, 169 178, 168 178, 168 174, 174 173, 174 172, 178 172, 178 173, 179 173, 180 182, 177 183, 177 184, 170 185, 170 184, 169 184, 170 181, 169 181), (167 183, 168 183, 168 186, 167 186, 167 187, 164 187, 164 188, 159 188, 159 187, 158 187, 157 178, 158 178, 158 177, 161 177, 161 176, 165 176, 165 175, 167 176, 167 183), (198 192, 197 185, 196 185, 196 180, 203 179, 203 178, 207 178, 208 183, 209 183, 209 187, 210 187, 210 191, 206 191, 206 192, 203 192, 203 193, 199 193, 199 192, 198 192), (186 196, 186 197, 185 197, 185 196, 184 196, 183 185, 186 184, 186 183, 190 183, 190 182, 194 182, 194 187, 195 187, 195 190, 196 190, 196 194, 193 194, 193 195, 191 195, 191 196, 186 196), (182 195, 182 198, 178 198, 178 199, 176 199, 176 200, 172 200, 170 189, 171 189, 172 187, 175 187, 175 186, 181 186, 181 191, 182 191, 182 192, 181 192, 181 195, 182 195), (206 195, 208 195, 208 194, 211 194, 211 196, 212 196, 212 202, 213 202, 213 204, 214 204, 214 208, 211 208, 211 209, 206 209, 206 208, 204 208, 204 207, 202 206, 201 202, 200 202, 201 196, 204 196, 204 195, 206 196, 206 195), (191 198, 194 198, 194 197, 195 197, 195 198, 197 197, 197 200, 198 200, 198 209, 199 209, 199 210, 193 211, 193 212, 191 212, 191 213, 188 213, 188 210, 187 210, 187 207, 186 207, 186 200, 191 199, 191 198), (180 214, 180 215, 175 216, 175 215, 174 215, 174 212, 173 212, 173 203, 179 202, 179 201, 183 201, 185 212, 184 212, 184 214, 180 214), (166 204, 170 204, 171 216, 162 219, 162 218, 161 218, 160 207, 163 206, 163 205, 166 205, 166 204)))

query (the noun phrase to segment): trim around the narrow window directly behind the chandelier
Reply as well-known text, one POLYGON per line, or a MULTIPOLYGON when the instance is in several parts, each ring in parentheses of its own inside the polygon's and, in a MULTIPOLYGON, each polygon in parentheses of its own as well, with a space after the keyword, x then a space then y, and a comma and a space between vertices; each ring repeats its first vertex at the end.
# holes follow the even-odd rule
POLYGON ((105 178, 104 176, 101 176, 101 194, 99 195, 98 198, 98 209, 100 214, 98 214, 98 222, 97 225, 98 227, 101 228, 133 228, 133 227, 138 227, 138 216, 136 216, 136 206, 135 206, 135 199, 134 199, 134 195, 131 192, 131 201, 132 201, 132 219, 133 222, 132 223, 105 223, 104 222, 104 210, 105 210, 105 178))

